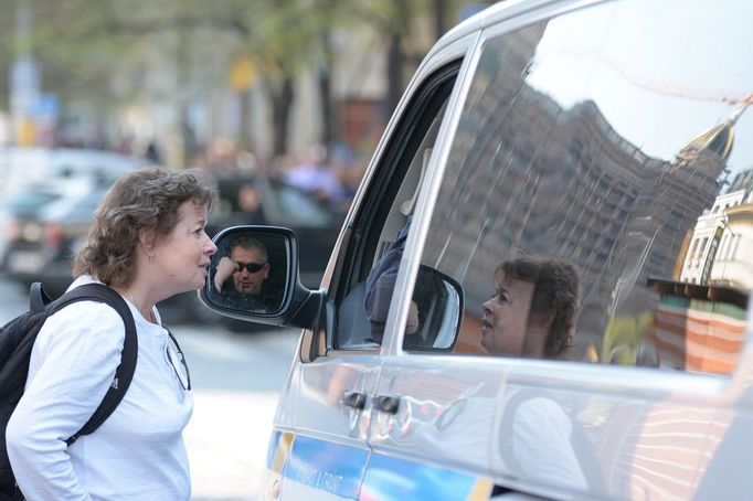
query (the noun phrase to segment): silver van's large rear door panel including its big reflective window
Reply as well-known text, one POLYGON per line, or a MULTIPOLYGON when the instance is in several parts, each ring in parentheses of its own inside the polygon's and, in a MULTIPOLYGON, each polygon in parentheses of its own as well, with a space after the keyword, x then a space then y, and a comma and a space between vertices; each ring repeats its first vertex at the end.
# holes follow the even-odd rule
POLYGON ((394 280, 362 492, 751 491, 723 473, 753 422, 751 9, 490 14, 394 280))

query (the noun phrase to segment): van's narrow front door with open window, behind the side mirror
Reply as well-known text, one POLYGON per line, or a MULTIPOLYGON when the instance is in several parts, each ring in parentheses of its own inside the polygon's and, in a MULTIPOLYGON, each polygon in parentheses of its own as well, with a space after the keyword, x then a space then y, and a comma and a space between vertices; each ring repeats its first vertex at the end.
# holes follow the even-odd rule
POLYGON ((267 489, 283 499, 359 498, 371 399, 386 353, 374 328, 384 320, 381 306, 364 306, 372 292, 368 275, 409 221, 405 209, 425 173, 426 151, 445 127, 470 43, 453 44, 436 65, 420 70, 424 76, 406 92, 353 202, 322 285, 324 328, 304 333, 300 361, 280 395, 268 460, 279 475, 267 489))

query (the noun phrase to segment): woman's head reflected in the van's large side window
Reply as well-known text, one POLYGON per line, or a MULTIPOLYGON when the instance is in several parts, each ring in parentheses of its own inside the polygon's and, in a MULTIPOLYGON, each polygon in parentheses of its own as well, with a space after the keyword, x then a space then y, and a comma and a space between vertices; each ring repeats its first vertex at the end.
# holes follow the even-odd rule
POLYGON ((481 345, 494 355, 561 359, 573 343, 579 278, 561 260, 518 258, 495 270, 482 305, 481 345))

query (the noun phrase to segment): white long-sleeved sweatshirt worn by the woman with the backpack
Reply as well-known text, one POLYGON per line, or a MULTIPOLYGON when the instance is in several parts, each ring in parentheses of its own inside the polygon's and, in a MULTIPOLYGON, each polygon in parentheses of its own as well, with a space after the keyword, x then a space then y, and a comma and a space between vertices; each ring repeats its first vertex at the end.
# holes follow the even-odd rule
MULTIPOLYGON (((72 288, 87 281, 81 277, 72 288)), ((109 306, 81 301, 51 316, 36 338, 25 393, 6 433, 29 501, 191 497, 182 431, 193 396, 168 360, 167 331, 126 302, 138 334, 134 380, 109 418, 70 448, 65 440, 92 417, 113 382, 125 327, 109 306)))

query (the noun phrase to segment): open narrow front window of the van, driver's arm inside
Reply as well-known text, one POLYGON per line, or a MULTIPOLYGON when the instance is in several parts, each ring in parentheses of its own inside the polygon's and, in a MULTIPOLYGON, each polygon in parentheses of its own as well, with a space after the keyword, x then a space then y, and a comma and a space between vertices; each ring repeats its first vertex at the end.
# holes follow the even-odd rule
POLYGON ((339 303, 335 349, 380 349, 413 211, 425 180, 462 61, 449 63, 416 92, 382 156, 371 200, 354 223, 363 242, 344 258, 351 283, 339 303))

